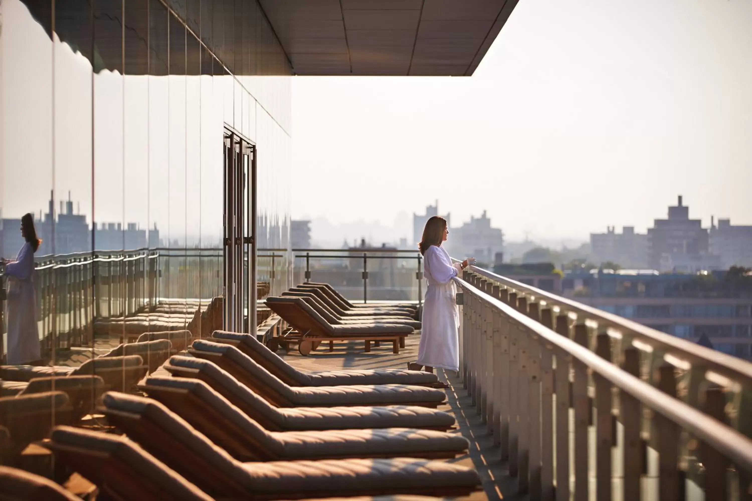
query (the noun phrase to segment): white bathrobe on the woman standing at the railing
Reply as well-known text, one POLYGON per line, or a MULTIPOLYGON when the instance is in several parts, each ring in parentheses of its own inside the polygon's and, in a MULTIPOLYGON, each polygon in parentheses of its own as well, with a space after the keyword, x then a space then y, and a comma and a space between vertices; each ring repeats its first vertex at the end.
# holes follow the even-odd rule
POLYGON ((430 246, 423 255, 426 300, 423 303, 423 328, 420 333, 417 363, 446 370, 459 369, 459 311, 452 278, 462 267, 452 264, 441 247, 430 246))

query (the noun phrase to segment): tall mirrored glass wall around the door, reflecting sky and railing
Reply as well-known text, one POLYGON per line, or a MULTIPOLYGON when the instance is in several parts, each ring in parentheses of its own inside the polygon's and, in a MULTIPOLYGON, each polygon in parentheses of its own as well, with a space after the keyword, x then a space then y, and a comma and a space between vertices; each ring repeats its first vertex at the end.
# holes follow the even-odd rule
POLYGON ((226 130, 256 147, 259 282, 290 285, 290 65, 256 2, 0 11, 0 252, 16 258, 31 213, 33 362, 78 367, 150 333, 221 327, 226 130))

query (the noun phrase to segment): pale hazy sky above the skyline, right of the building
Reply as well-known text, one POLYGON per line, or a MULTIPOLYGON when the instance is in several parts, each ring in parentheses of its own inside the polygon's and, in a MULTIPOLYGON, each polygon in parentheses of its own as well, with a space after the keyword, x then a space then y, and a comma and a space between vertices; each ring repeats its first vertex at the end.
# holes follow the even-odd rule
POLYGON ((295 218, 752 225, 752 2, 520 0, 472 77, 293 78, 295 218))

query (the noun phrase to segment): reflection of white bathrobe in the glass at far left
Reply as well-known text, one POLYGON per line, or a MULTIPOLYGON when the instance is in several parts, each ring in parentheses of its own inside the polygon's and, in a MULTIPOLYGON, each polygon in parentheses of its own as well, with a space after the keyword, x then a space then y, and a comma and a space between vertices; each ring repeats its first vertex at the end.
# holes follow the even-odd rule
POLYGON ((8 365, 27 364, 41 358, 33 273, 34 249, 27 242, 21 247, 16 261, 5 265, 5 276, 8 277, 8 365))

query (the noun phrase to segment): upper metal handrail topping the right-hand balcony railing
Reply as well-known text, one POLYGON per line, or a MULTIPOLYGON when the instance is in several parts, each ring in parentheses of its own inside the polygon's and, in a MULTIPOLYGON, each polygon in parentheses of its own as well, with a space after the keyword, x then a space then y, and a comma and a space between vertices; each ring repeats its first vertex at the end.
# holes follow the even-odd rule
POLYGON ((523 292, 523 294, 535 297, 536 299, 540 298, 547 305, 559 307, 562 312, 572 312, 577 315, 578 319, 595 321, 599 328, 605 327, 617 330, 622 334, 635 337, 637 340, 651 346, 653 349, 658 349, 660 352, 673 355, 675 358, 687 361, 687 363, 694 366, 705 367, 707 370, 711 370, 747 387, 752 386, 752 364, 740 358, 690 343, 687 340, 660 332, 660 330, 651 329, 618 315, 613 315, 592 306, 542 291, 539 288, 508 279, 483 268, 472 266, 469 267, 469 270, 493 282, 499 282, 499 284, 505 287, 513 288, 515 291, 523 292))

